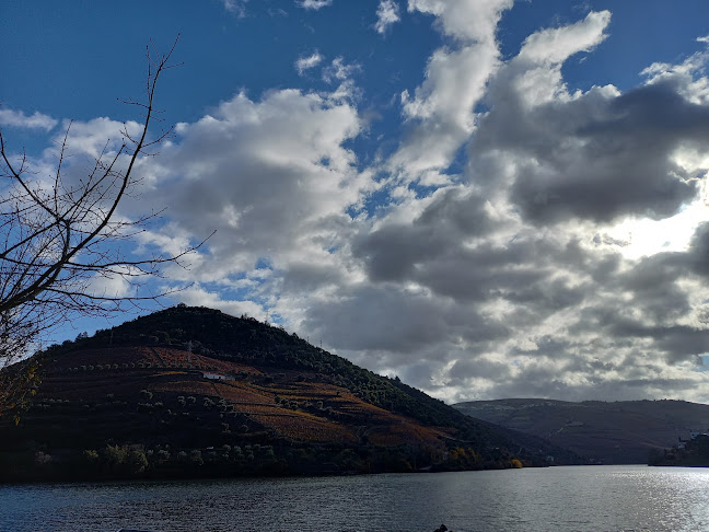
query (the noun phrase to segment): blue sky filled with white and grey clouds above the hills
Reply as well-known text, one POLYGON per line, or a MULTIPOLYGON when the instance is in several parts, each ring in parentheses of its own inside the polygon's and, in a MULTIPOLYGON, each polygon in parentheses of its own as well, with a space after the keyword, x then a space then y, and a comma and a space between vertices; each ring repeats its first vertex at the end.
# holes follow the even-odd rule
POLYGON ((85 172, 177 35, 123 250, 217 233, 163 304, 446 402, 709 402, 705 0, 5 2, 9 149, 48 174, 71 119, 85 172))

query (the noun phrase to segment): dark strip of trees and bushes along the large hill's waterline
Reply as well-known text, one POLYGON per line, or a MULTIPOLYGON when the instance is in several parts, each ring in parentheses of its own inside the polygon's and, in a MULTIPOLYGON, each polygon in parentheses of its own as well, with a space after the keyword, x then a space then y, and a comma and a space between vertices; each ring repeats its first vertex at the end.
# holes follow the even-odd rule
MULTIPOLYGON (((224 446, 226 447, 226 446, 224 446)), ((382 473, 442 473, 454 471, 522 467, 509 462, 480 463, 476 466, 456 460, 414 470, 398 450, 333 449, 290 450, 272 446, 235 446, 233 451, 181 450, 175 456, 161 449, 155 453, 140 446, 107 446, 98 451, 62 451, 60 456, 37 451, 4 456, 5 484, 113 481, 189 481, 219 478, 263 478, 297 476, 346 476, 382 473), (244 454, 247 453, 247 454, 244 454), (322 461, 321 461, 322 460, 322 461), (8 469, 12 473, 7 473, 8 469)))

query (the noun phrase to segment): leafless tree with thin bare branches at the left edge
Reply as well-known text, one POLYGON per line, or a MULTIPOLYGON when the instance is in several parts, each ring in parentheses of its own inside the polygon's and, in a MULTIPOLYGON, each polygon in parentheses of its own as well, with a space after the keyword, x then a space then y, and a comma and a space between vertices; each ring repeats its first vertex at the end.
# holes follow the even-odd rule
MULTIPOLYGON (((155 215, 137 220, 117 216, 138 180, 137 165, 171 135, 168 128, 151 138, 149 128, 158 119, 158 82, 176 66, 171 62, 175 45, 167 54, 147 47, 144 100, 126 102, 140 111, 140 127, 124 124, 120 142, 106 141, 81 178, 65 171, 71 124, 50 176, 32 172, 26 154, 11 153, 0 131, 0 369, 23 358, 43 333, 71 316, 104 315, 164 296, 139 288, 160 276, 165 264, 179 264, 198 247, 135 259, 125 252, 126 241, 144 231, 155 215), (133 296, 97 292, 102 277, 129 282, 133 296)), ((0 407, 12 389, 8 379, 0 380, 0 407)))

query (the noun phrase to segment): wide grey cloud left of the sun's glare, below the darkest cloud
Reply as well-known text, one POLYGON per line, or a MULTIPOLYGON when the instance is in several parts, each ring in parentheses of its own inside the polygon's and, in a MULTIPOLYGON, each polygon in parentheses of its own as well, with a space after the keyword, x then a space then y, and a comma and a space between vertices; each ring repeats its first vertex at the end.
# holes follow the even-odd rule
POLYGON ((583 300, 586 287, 550 279, 559 265, 582 271, 595 264, 578 242, 559 243, 523 232, 501 243, 468 245, 465 239, 480 236, 480 228, 490 223, 477 201, 472 204, 477 210, 470 209, 463 223, 462 206, 470 201, 464 205, 460 199, 457 192, 441 195, 412 223, 393 223, 360 235, 353 253, 364 261, 370 279, 415 281, 466 304, 504 299, 534 305, 538 314, 583 300))

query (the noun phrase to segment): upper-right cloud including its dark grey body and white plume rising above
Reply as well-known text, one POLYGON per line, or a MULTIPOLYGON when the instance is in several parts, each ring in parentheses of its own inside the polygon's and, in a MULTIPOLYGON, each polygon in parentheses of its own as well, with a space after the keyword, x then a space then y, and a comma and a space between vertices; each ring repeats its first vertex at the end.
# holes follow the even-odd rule
POLYGON ((532 35, 491 82, 472 157, 505 159, 510 198, 530 220, 666 218, 697 194, 697 169, 676 153, 704 141, 709 107, 683 95, 687 79, 626 93, 570 93, 561 79, 562 61, 601 43, 608 22, 590 13, 532 35))

